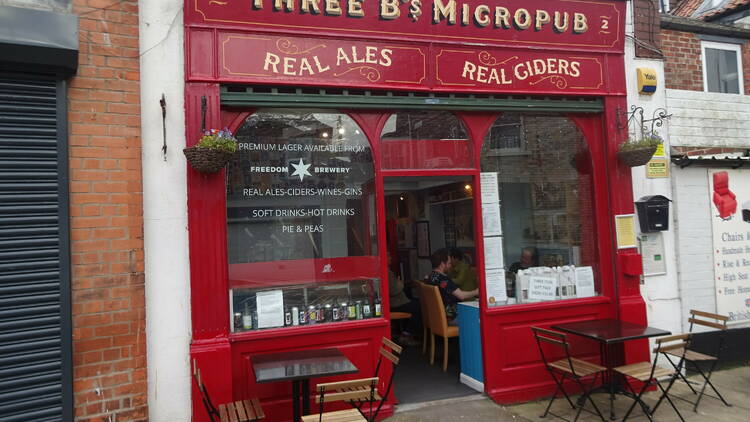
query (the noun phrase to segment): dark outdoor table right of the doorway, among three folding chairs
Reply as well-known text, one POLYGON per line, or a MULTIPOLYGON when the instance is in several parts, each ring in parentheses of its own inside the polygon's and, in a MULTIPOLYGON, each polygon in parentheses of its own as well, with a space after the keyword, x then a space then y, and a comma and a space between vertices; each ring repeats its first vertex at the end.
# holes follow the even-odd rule
POLYGON ((613 368, 624 363, 625 345, 628 340, 649 337, 667 336, 670 331, 647 325, 633 324, 618 319, 595 319, 590 321, 569 322, 552 326, 565 333, 586 337, 599 343, 602 365, 607 368, 603 386, 609 391, 609 418, 615 420, 615 393, 627 393, 621 383, 615 379, 613 368))

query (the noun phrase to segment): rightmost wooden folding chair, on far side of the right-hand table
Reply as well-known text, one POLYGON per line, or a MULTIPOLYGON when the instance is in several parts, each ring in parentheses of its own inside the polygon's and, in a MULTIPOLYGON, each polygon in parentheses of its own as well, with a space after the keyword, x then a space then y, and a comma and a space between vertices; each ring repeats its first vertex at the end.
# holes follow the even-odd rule
POLYGON ((725 337, 727 333, 727 321, 729 321, 729 317, 724 316, 724 315, 697 311, 695 309, 690 310, 690 318, 688 318, 688 322, 690 322, 690 333, 693 333, 693 328, 696 325, 700 325, 700 326, 708 327, 708 328, 715 328, 720 331, 719 336, 718 336, 718 342, 716 343, 716 348, 714 349, 715 350, 714 354, 709 355, 709 354, 699 353, 690 349, 687 349, 684 351, 685 366, 687 367, 688 364, 690 364, 690 367, 687 369, 695 370, 703 378, 703 386, 701 387, 700 393, 695 391, 695 388, 693 388, 691 383, 682 374, 683 368, 674 361, 676 353, 679 355, 681 351, 669 350, 666 352, 662 352, 664 353, 669 363, 671 363, 672 366, 675 368, 679 377, 685 382, 685 384, 687 384, 687 386, 693 392, 693 394, 698 395, 698 398, 697 400, 695 400, 695 402, 685 400, 682 397, 677 397, 681 400, 685 400, 693 404, 694 412, 698 411, 698 405, 700 404, 701 399, 703 398, 703 395, 705 394, 707 386, 710 386, 711 389, 714 390, 714 393, 716 393, 716 396, 718 396, 718 397, 714 397, 710 394, 707 394, 709 397, 718 398, 719 400, 721 400, 722 403, 724 403, 724 405, 732 406, 731 404, 727 403, 727 401, 724 399, 721 393, 719 393, 719 390, 717 390, 716 387, 713 385, 713 383, 711 383, 711 374, 713 374, 713 371, 716 368, 716 364, 719 362, 719 357, 725 349, 724 341, 725 341, 725 337), (704 371, 705 368, 701 368, 701 365, 703 364, 707 364, 708 371, 704 371))

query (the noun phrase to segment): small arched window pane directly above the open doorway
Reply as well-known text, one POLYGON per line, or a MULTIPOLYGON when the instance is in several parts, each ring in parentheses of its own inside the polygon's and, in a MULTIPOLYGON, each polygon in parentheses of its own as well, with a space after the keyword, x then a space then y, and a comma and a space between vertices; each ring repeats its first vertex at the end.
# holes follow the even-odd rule
POLYGON ((446 111, 399 111, 380 134, 383 169, 473 168, 461 120, 446 111))

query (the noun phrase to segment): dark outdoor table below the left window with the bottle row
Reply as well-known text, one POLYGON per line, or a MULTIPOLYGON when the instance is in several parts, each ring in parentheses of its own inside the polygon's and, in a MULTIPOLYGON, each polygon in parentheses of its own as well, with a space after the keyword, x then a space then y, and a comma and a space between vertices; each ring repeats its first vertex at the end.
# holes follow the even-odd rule
POLYGON ((358 372, 341 350, 336 348, 266 353, 251 357, 255 382, 292 382, 292 417, 310 413, 310 379, 358 372), (302 413, 300 413, 300 399, 302 413))

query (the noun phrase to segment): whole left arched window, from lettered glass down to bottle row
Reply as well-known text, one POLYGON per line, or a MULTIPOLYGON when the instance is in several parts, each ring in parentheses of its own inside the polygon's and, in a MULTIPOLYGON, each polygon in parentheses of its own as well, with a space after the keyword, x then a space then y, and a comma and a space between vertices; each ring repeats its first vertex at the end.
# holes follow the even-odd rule
POLYGON ((233 331, 380 316, 372 153, 343 113, 261 110, 227 168, 233 331))

